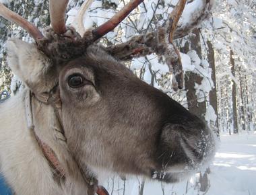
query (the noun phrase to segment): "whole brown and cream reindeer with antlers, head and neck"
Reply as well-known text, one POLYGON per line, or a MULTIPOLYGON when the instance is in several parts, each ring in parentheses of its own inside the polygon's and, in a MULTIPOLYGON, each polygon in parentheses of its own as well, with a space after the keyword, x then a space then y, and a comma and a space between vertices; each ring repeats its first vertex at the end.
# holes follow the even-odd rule
MULTIPOLYGON (((0 104, 0 169, 13 193, 107 194, 98 186, 102 170, 172 183, 203 167, 214 155, 212 131, 120 62, 152 52, 163 55, 174 89, 182 88, 172 40, 191 29, 190 24, 177 28, 186 1, 180 0, 154 32, 107 47, 98 40, 141 0, 84 34, 65 26, 67 2, 49 1, 52 28, 44 35, 0 4, 0 15, 35 40, 9 39, 6 46, 9 67, 26 85, 0 104)), ((90 2, 82 5, 83 13, 90 2)), ((210 1, 203 2, 193 26, 209 12, 210 1)))

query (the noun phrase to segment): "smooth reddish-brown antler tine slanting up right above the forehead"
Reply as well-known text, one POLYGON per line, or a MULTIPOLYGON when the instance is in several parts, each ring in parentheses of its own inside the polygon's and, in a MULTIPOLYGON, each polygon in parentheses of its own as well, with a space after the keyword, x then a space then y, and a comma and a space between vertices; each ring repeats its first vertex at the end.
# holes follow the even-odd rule
POLYGON ((102 24, 101 26, 98 26, 98 28, 94 29, 92 31, 92 34, 94 36, 94 41, 97 40, 98 38, 101 38, 111 30, 113 30, 117 25, 119 25, 125 17, 133 9, 135 9, 143 0, 131 0, 127 5, 123 7, 120 11, 118 11, 113 17, 111 17, 107 22, 102 24))

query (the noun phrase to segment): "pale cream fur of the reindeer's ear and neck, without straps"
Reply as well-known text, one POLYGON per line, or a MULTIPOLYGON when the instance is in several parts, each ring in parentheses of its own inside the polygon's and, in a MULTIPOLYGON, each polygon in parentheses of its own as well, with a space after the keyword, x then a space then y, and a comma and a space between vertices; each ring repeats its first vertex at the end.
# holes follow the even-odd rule
POLYGON ((66 143, 61 141, 63 134, 56 130, 59 126, 53 107, 32 97, 35 128, 30 129, 26 124, 24 100, 27 91, 49 91, 56 83, 54 79, 44 77, 51 67, 49 60, 35 44, 21 40, 9 40, 7 54, 9 67, 30 87, 0 104, 0 171, 7 184, 15 194, 21 195, 87 194, 82 173, 66 143), (54 180, 53 169, 34 134, 57 155, 65 171, 65 182, 58 184, 54 180))

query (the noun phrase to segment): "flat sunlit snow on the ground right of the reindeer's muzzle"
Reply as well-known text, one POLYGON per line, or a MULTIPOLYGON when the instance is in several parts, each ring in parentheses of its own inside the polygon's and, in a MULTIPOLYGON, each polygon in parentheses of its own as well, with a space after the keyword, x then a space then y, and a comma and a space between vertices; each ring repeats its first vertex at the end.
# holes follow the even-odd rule
POLYGON ((256 134, 221 136, 207 194, 256 194, 256 134), (216 187, 214 187, 216 186, 216 187))

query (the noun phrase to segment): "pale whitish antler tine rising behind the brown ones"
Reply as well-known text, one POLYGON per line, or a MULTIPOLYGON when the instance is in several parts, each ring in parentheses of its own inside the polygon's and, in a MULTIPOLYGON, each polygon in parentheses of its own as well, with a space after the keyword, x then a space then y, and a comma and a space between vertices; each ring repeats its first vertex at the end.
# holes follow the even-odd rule
POLYGON ((86 10, 90 7, 92 4, 92 1, 94 0, 88 0, 84 1, 84 3, 81 5, 77 15, 75 16, 73 26, 75 27, 75 30, 82 36, 86 29, 84 28, 84 13, 86 13, 86 10))

